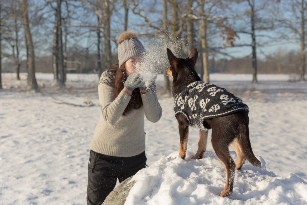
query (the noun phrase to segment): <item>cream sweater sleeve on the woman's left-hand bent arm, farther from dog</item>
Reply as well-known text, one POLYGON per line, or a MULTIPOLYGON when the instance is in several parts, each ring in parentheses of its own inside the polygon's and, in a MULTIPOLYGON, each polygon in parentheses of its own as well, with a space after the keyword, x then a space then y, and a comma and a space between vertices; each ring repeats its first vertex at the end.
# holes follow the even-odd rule
POLYGON ((122 116, 131 96, 122 90, 114 99, 113 86, 103 81, 100 82, 102 83, 98 85, 98 95, 101 114, 108 124, 114 125, 120 116, 122 116))

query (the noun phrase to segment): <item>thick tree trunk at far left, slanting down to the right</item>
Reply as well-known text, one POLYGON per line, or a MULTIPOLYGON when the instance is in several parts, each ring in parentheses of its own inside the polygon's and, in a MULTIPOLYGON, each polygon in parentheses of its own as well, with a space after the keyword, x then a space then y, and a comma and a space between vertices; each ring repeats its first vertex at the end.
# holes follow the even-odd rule
POLYGON ((21 0, 21 13, 25 26, 25 41, 27 47, 27 65, 28 65, 28 85, 30 89, 38 91, 38 85, 35 78, 35 55, 33 41, 29 25, 27 0, 21 0))

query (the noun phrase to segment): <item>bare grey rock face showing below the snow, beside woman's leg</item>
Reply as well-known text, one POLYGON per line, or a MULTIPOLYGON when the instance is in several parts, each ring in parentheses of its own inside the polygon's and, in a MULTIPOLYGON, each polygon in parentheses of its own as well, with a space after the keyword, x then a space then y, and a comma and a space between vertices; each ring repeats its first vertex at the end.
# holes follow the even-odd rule
POLYGON ((135 184, 132 176, 120 183, 104 200, 103 205, 123 205, 129 195, 130 189, 135 184))

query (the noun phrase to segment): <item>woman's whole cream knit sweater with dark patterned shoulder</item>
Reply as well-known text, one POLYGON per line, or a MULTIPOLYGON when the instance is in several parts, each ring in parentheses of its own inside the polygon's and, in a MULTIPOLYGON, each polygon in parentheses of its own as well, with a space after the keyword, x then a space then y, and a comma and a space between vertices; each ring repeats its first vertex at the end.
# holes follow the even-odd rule
POLYGON ((122 90, 114 98, 113 81, 112 72, 102 73, 98 85, 100 116, 90 148, 109 156, 135 156, 145 151, 144 116, 151 122, 157 122, 161 118, 162 108, 157 95, 149 90, 141 94, 141 108, 122 115, 131 96, 122 90))

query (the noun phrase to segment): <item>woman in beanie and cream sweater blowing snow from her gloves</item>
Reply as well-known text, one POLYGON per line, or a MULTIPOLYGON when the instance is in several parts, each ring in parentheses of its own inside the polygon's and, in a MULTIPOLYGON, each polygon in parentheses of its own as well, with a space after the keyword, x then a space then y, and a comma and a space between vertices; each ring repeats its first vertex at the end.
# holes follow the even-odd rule
POLYGON ((102 204, 117 178, 121 183, 145 168, 144 115, 157 122, 162 113, 155 88, 147 89, 137 73, 144 46, 131 31, 117 44, 119 65, 103 72, 98 85, 101 112, 90 145, 87 204, 102 204))

